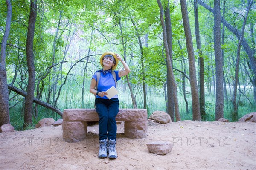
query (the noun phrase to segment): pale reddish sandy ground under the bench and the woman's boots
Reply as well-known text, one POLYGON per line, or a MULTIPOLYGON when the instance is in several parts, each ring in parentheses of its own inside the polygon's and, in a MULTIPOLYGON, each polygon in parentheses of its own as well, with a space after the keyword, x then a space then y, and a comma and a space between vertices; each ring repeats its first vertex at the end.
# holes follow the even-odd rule
POLYGON ((180 121, 149 124, 144 139, 129 139, 118 125, 118 158, 99 159, 98 126, 78 143, 62 140, 62 127, 0 133, 0 169, 256 170, 256 123, 180 121), (172 141, 166 155, 149 153, 151 141, 172 141))

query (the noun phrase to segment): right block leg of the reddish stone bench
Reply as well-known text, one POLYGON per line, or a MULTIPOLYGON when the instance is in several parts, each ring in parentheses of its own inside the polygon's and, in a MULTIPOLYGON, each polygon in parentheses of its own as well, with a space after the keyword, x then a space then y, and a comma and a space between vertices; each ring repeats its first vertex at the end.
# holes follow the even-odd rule
POLYGON ((148 121, 125 121, 125 136, 131 139, 146 138, 148 121))

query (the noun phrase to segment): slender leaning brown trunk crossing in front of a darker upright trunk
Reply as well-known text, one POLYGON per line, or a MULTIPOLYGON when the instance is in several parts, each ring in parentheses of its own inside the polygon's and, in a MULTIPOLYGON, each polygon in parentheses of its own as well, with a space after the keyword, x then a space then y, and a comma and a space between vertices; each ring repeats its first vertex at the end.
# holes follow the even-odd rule
POLYGON ((175 77, 174 77, 173 69, 172 69, 172 61, 171 61, 171 57, 169 55, 166 26, 165 26, 165 22, 163 19, 163 13, 164 13, 163 6, 162 6, 162 3, 160 0, 157 0, 157 3, 159 6, 159 9, 160 9, 160 20, 161 20, 161 25, 162 25, 162 29, 163 29, 163 43, 164 43, 164 48, 165 48, 166 58, 167 58, 167 69, 168 69, 168 72, 170 75, 171 84, 174 89, 174 95, 172 97, 173 97, 174 107, 175 107, 175 118, 176 118, 176 121, 180 121, 179 102, 178 102, 178 98, 177 98, 177 84, 175 83, 175 77))

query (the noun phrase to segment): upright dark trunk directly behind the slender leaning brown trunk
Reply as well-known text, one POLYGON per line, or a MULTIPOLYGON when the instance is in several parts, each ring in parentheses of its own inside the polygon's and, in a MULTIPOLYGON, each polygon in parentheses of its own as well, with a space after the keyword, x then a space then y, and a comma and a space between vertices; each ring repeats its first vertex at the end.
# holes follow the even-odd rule
MULTIPOLYGON (((172 64, 172 23, 171 23, 171 17, 170 17, 170 3, 168 0, 168 4, 166 6, 166 9, 164 10, 164 16, 165 16, 165 23, 166 23, 166 36, 167 36, 167 43, 169 48, 169 55, 171 59, 172 64)), ((172 64, 173 66, 173 64, 172 64)), ((175 115, 175 104, 173 101, 172 96, 174 96, 174 89, 171 83, 171 78, 169 74, 169 71, 167 69, 167 113, 171 116, 172 121, 174 121, 174 115, 175 115)))

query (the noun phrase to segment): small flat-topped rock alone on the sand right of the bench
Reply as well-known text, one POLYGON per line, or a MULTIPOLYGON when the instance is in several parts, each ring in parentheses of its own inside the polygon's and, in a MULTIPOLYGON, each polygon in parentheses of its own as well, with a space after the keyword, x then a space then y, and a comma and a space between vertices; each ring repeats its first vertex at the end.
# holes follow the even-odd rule
POLYGON ((153 141, 147 143, 148 151, 157 155, 165 155, 171 152, 172 147, 172 142, 167 141, 153 141))

